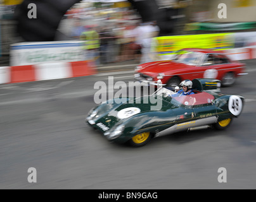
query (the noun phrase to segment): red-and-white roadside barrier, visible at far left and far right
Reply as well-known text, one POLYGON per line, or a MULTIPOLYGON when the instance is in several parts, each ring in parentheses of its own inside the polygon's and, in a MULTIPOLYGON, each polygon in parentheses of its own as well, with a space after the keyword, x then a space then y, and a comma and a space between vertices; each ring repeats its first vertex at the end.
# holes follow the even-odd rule
MULTIPOLYGON (((227 49, 224 52, 234 60, 256 59, 256 46, 227 49)), ((54 80, 95 73, 96 67, 91 66, 89 61, 46 62, 27 66, 0 67, 0 84, 54 80)))

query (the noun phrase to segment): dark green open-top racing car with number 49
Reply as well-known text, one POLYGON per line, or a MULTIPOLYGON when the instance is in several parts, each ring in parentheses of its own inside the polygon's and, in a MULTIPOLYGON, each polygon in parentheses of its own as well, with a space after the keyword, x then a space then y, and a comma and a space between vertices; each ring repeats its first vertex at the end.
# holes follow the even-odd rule
POLYGON ((245 98, 222 94, 221 81, 194 79, 192 82, 193 95, 172 97, 176 92, 161 86, 146 97, 122 98, 118 103, 115 99, 107 100, 90 110, 86 122, 110 141, 143 146, 152 138, 202 126, 226 129, 241 114, 245 98), (153 104, 143 102, 152 97, 160 99, 161 109, 152 110, 153 104))

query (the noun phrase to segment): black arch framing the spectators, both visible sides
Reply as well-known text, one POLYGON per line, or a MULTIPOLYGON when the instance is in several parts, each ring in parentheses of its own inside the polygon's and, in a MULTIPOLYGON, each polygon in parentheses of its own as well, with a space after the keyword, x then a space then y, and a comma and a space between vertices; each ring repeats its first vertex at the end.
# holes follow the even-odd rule
MULTIPOLYGON (((75 3, 81 0, 24 0, 16 6, 15 18, 17 21, 17 32, 28 42, 53 41, 56 29, 63 18, 63 15, 75 3), (30 11, 28 5, 34 3, 37 6, 37 18, 30 19, 27 14, 30 11)), ((146 21, 157 21, 160 28, 160 35, 167 35, 173 32, 174 21, 172 15, 177 15, 177 9, 159 9, 156 0, 127 0, 134 9, 137 9, 141 19, 146 21)))

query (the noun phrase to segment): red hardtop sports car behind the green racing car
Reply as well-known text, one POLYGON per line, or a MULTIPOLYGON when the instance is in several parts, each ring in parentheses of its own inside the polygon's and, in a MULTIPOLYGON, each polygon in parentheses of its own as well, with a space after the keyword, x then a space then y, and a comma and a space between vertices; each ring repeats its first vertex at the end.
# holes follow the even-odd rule
POLYGON ((210 49, 181 49, 170 61, 140 64, 134 78, 147 85, 175 87, 182 80, 212 78, 221 80, 222 86, 233 85, 236 78, 245 73, 245 64, 232 61, 222 51, 210 49))

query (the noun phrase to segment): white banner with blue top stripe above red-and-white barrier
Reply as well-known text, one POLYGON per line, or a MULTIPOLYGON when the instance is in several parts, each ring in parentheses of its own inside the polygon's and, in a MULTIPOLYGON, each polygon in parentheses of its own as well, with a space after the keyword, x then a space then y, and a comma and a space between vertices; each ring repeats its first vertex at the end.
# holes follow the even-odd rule
POLYGON ((23 42, 11 45, 11 66, 84 61, 83 42, 23 42))

